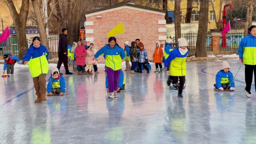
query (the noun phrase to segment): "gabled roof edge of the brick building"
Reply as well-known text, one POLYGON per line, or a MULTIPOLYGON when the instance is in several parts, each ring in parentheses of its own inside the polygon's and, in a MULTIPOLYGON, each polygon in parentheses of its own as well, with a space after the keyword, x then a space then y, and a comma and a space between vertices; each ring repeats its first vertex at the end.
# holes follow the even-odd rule
POLYGON ((156 9, 156 8, 150 8, 150 7, 146 7, 146 6, 140 6, 140 5, 136 5, 136 4, 129 4, 126 2, 114 5, 114 6, 108 6, 105 8, 100 8, 100 9, 96 9, 96 10, 91 10, 88 11, 86 13, 84 13, 84 16, 93 16, 95 14, 101 14, 104 12, 108 12, 108 11, 112 11, 112 10, 118 10, 121 8, 131 8, 131 9, 136 9, 136 10, 142 10, 142 11, 147 11, 147 12, 152 12, 152 13, 159 13, 162 15, 165 15, 165 11, 164 10, 160 10, 160 9, 156 9))

